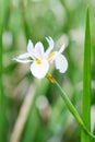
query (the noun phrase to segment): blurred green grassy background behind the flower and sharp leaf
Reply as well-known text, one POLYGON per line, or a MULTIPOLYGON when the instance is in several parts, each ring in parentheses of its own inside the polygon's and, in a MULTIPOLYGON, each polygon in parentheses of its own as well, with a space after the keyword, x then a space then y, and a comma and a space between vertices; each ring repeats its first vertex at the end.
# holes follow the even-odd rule
MULTIPOLYGON (((57 90, 12 59, 27 40, 67 43, 69 68, 52 74, 81 114, 85 11, 91 10, 92 131, 95 131, 95 0, 0 0, 0 142, 80 142, 81 128, 57 90)), ((86 100, 85 100, 86 103, 86 100)))

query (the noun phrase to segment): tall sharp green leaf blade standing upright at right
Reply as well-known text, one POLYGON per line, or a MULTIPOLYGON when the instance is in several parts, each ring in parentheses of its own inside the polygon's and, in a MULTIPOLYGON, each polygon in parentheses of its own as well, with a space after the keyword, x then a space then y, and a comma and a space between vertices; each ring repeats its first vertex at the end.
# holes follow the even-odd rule
MULTIPOLYGON (((85 43, 83 62, 83 102, 82 118, 88 131, 91 131, 91 32, 90 32, 90 9, 86 10, 85 43)), ((91 142, 91 138, 82 130, 81 142, 91 142)))

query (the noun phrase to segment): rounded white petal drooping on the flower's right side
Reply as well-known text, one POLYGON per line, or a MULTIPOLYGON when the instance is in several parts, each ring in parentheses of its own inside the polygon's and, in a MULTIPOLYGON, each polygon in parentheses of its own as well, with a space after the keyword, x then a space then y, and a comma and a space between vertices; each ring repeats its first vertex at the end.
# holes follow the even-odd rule
POLYGON ((55 64, 56 69, 58 69, 61 73, 64 73, 68 69, 68 61, 61 54, 56 57, 55 64))

